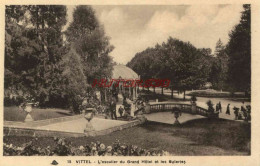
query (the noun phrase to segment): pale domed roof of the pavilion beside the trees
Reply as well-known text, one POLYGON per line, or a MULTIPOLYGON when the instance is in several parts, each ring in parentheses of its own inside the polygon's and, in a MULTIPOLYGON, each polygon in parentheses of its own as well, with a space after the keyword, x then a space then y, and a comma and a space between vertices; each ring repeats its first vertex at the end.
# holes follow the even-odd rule
POLYGON ((138 74, 125 65, 115 65, 113 68, 113 79, 118 79, 119 77, 122 79, 138 79, 138 74))

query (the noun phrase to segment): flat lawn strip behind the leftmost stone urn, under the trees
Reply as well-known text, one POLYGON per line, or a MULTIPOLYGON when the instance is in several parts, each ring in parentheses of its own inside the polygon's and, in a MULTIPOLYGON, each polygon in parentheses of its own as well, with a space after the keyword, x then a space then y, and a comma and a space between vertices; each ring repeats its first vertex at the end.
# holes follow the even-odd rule
MULTIPOLYGON (((71 116, 72 113, 68 110, 57 109, 57 108, 33 108, 30 113, 34 120, 44 120, 51 118, 59 118, 63 116, 71 116)), ((19 111, 16 106, 4 107, 4 120, 5 121, 21 121, 23 122, 26 117, 25 111, 19 111)))

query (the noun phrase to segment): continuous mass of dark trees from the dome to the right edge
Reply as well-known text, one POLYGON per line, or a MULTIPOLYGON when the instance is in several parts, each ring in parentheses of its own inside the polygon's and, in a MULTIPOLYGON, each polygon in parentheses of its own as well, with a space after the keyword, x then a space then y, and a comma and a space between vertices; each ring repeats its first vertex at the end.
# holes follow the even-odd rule
MULTIPOLYGON (((199 89, 211 82, 214 89, 250 91, 251 10, 243 5, 241 20, 230 32, 225 46, 219 39, 214 54, 189 42, 169 38, 162 45, 139 52, 127 64, 143 79, 168 78, 171 89, 199 89)), ((184 95, 185 96, 185 95, 184 95)))

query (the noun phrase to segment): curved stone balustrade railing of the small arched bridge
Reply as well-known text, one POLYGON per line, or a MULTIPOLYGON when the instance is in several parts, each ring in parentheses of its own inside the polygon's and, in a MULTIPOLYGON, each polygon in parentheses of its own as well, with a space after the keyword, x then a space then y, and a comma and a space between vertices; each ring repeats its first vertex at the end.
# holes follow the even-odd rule
POLYGON ((196 114, 206 117, 218 117, 218 113, 209 112, 207 109, 199 107, 199 106, 192 106, 191 104, 181 104, 181 103, 154 103, 150 104, 150 112, 166 112, 172 111, 173 108, 179 108, 181 112, 196 114))

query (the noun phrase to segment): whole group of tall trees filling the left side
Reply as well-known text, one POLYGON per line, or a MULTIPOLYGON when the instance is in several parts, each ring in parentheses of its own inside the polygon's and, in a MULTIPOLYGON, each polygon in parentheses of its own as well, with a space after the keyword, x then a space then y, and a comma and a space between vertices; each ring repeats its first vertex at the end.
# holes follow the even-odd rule
POLYGON ((6 6, 6 92, 77 111, 88 84, 111 76, 113 46, 92 7, 77 6, 64 34, 66 15, 61 5, 6 6))

